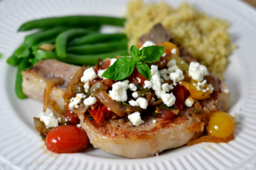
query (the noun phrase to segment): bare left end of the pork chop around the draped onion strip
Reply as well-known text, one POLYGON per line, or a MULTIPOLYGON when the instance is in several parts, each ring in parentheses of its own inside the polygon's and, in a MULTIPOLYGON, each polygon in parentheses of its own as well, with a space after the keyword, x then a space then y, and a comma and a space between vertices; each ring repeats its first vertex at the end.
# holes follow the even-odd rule
POLYGON ((22 71, 22 90, 28 97, 43 102, 46 82, 50 78, 61 77, 64 79, 64 83, 52 89, 50 99, 55 100, 64 111, 64 91, 79 68, 79 66, 68 65, 56 59, 41 60, 30 70, 22 71))

